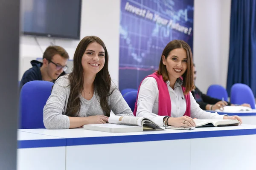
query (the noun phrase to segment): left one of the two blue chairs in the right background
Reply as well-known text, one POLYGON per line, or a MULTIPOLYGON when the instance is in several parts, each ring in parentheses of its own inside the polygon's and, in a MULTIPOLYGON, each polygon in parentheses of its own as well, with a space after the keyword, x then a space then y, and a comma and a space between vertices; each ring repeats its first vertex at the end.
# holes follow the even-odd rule
POLYGON ((207 90, 207 95, 216 99, 228 101, 227 90, 221 85, 210 85, 207 90))

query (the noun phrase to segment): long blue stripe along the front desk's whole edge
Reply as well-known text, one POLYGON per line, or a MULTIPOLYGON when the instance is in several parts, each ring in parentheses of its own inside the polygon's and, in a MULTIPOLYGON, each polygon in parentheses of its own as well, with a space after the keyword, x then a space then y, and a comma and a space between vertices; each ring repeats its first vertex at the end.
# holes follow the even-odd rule
MULTIPOLYGON (((204 127, 201 127, 204 128, 204 127)), ((218 128, 218 127, 215 127, 218 128)), ((115 144, 129 142, 149 142, 178 139, 197 139, 222 136, 240 136, 255 135, 256 129, 241 130, 216 130, 184 133, 163 133, 163 134, 146 134, 146 135, 129 135, 129 136, 102 136, 102 137, 85 137, 85 138, 66 138, 66 139, 40 139, 40 140, 23 140, 18 141, 18 149, 37 148, 37 147, 60 147, 60 146, 77 146, 90 144, 115 144)))

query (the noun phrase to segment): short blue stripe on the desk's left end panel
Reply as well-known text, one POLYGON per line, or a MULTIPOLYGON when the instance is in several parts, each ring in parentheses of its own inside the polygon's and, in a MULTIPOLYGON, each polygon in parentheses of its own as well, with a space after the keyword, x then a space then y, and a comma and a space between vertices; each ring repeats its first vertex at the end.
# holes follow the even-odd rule
POLYGON ((58 147, 66 146, 66 139, 40 139, 17 141, 18 149, 34 147, 58 147))

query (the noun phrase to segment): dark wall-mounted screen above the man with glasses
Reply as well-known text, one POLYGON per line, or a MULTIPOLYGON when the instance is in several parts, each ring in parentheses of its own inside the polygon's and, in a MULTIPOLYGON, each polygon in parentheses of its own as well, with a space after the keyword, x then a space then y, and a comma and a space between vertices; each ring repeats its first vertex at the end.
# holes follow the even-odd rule
POLYGON ((81 0, 20 0, 25 35, 80 39, 81 0))

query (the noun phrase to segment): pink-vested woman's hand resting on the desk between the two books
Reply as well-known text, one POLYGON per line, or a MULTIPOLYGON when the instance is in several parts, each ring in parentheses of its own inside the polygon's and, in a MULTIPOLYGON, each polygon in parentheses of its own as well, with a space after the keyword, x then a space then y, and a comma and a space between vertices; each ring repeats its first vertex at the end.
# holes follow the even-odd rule
POLYGON ((195 127, 194 120, 189 116, 182 116, 182 117, 170 117, 168 119, 169 126, 183 126, 183 127, 195 127))

